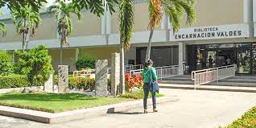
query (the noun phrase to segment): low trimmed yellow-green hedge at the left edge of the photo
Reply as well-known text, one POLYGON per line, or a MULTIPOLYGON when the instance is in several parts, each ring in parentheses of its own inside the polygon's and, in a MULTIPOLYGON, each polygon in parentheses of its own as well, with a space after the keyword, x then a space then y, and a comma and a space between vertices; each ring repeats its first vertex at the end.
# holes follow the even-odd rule
POLYGON ((0 89, 9 88, 21 88, 27 87, 30 83, 27 76, 23 75, 10 75, 10 76, 0 76, 0 89))

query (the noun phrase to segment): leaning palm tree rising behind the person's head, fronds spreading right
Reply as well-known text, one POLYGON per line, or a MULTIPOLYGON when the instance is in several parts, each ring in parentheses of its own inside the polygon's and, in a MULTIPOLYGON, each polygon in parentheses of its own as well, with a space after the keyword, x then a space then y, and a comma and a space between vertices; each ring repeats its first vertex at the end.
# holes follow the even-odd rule
POLYGON ((195 19, 194 0, 149 0, 150 23, 148 29, 151 31, 148 40, 146 60, 151 57, 151 40, 155 27, 163 18, 163 12, 169 17, 174 32, 180 29, 180 20, 183 14, 187 15, 187 25, 191 25, 195 19))

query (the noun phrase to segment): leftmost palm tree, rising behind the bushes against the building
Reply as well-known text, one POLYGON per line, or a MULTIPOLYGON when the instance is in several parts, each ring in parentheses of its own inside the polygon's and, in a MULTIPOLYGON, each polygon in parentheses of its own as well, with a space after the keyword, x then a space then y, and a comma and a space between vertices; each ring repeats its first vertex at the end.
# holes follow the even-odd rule
POLYGON ((27 35, 34 36, 36 28, 39 27, 41 21, 39 12, 32 10, 30 6, 24 5, 20 8, 10 8, 11 17, 16 25, 16 31, 23 35, 23 51, 27 47, 27 35))

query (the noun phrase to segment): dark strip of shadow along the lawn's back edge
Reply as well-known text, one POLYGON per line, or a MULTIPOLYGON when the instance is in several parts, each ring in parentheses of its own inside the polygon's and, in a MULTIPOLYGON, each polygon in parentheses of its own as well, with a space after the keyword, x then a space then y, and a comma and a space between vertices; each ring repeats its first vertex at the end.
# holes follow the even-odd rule
POLYGON ((8 93, 0 95, 0 101, 25 100, 25 101, 72 101, 72 100, 97 100, 80 93, 8 93))

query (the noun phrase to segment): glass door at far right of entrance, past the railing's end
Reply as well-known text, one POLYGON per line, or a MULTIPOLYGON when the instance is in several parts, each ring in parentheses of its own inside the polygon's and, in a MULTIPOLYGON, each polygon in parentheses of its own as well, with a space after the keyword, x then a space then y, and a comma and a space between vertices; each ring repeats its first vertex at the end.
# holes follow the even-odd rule
POLYGON ((237 73, 250 73, 250 50, 240 49, 237 51, 237 73))

